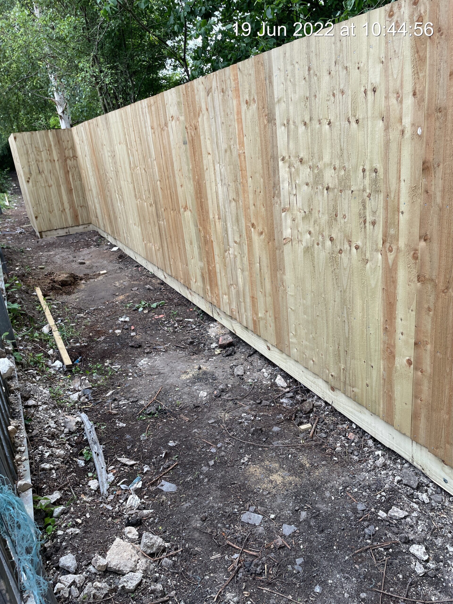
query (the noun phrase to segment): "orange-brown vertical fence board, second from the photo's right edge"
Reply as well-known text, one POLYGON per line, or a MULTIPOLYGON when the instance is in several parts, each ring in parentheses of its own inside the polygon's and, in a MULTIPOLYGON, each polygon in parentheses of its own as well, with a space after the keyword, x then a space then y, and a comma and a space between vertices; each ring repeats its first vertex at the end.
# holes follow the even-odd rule
POLYGON ((426 55, 425 127, 423 131, 422 203, 420 205, 419 262, 417 274, 417 309, 414 349, 414 394, 412 438, 422 445, 429 443, 429 418, 432 409, 432 368, 437 356, 434 344, 434 327, 437 283, 439 274, 439 249, 442 233, 442 186, 447 174, 448 148, 444 144, 449 124, 448 70, 451 62, 446 39, 448 10, 444 3, 428 5, 428 20, 438 32, 438 40, 428 45, 426 55))

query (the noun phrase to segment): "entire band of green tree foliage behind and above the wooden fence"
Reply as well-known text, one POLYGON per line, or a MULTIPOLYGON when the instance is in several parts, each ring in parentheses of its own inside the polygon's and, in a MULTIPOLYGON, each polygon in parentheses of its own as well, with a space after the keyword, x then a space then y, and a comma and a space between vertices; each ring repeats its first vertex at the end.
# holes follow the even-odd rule
POLYGON ((0 168, 11 166, 11 131, 59 127, 57 92, 76 124, 290 42, 295 22, 339 22, 386 3, 3 0, 0 168), (259 36, 263 21, 286 36, 259 36))

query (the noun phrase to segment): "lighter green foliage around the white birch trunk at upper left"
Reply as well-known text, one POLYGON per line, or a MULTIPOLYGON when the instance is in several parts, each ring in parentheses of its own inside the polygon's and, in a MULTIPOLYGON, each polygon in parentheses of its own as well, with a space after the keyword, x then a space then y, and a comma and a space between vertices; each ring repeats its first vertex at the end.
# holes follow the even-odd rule
POLYGON ((149 35, 126 14, 106 21, 92 0, 4 0, 0 40, 0 146, 11 131, 60 127, 56 87, 75 124, 173 82, 149 35))

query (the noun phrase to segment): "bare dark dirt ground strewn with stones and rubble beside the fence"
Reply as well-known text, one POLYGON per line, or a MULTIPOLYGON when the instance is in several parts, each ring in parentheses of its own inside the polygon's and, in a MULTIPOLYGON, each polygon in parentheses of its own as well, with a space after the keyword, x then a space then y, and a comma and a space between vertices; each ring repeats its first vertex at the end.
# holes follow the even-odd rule
POLYGON ((1 240, 34 492, 54 494, 36 519, 58 598, 453 601, 453 498, 236 336, 220 349, 222 326, 97 233, 37 239, 16 191, 1 240), (55 365, 36 285, 72 371, 55 365), (103 445, 107 501, 77 411, 103 445), (144 556, 143 533, 166 545, 144 556), (116 538, 130 585, 92 565, 116 538))

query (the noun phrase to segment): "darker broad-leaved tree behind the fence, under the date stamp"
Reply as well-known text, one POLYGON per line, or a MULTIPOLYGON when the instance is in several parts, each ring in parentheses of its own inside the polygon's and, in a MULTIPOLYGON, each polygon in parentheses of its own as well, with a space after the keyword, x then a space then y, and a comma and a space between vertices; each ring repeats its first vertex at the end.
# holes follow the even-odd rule
POLYGON ((159 45, 185 81, 216 71, 290 42, 294 23, 338 22, 388 0, 97 0, 101 14, 114 20, 128 14, 159 45), (286 36, 259 36, 262 22, 286 36), (248 24, 248 35, 234 24, 248 24))

